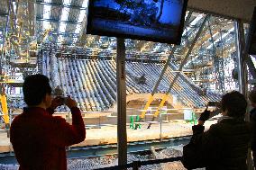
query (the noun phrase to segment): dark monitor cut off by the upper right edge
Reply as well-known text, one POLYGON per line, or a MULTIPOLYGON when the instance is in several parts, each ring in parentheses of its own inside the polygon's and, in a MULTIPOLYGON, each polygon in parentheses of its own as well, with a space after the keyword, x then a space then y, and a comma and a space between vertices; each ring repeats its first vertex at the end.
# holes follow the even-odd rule
POLYGON ((251 24, 248 33, 248 54, 256 55, 256 7, 254 8, 254 13, 252 15, 251 24))

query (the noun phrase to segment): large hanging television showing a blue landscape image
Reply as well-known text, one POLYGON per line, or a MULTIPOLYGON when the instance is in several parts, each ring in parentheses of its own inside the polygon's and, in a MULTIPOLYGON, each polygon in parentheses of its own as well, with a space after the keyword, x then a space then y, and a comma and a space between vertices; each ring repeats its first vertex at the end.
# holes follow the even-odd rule
POLYGON ((179 44, 187 0, 89 0, 87 34, 179 44))

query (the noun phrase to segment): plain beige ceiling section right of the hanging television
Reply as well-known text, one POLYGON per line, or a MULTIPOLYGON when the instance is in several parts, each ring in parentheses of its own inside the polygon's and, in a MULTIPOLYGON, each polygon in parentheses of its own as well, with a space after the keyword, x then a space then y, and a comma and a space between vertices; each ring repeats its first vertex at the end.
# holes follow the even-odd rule
POLYGON ((251 22, 256 0, 188 0, 187 7, 251 22))

